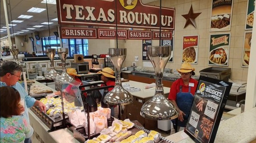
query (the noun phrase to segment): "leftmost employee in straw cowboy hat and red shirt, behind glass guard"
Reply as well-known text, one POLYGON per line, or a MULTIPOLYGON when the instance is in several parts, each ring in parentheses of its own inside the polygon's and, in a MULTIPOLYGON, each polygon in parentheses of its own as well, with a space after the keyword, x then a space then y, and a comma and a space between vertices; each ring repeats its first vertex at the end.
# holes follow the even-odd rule
MULTIPOLYGON (((72 76, 72 77, 75 79, 75 81, 80 82, 81 85, 83 85, 83 83, 81 82, 81 80, 78 78, 78 76, 80 76, 80 75, 77 74, 77 72, 76 72, 76 70, 75 70, 74 68, 68 68, 68 69, 67 69, 67 73, 68 73, 70 76, 72 76)), ((71 91, 71 88, 72 88, 72 86, 69 85, 69 86, 66 87, 64 90, 66 90, 66 92, 70 92, 70 91, 71 91)), ((85 90, 84 87, 82 87, 82 90, 85 90)), ((55 95, 60 95, 60 91, 56 91, 56 92, 54 92, 54 93, 52 93, 52 94, 49 94, 49 95, 47 96, 47 98, 51 98, 51 97, 53 97, 53 96, 55 96, 55 95)), ((86 96, 86 94, 85 94, 85 96, 86 96)))

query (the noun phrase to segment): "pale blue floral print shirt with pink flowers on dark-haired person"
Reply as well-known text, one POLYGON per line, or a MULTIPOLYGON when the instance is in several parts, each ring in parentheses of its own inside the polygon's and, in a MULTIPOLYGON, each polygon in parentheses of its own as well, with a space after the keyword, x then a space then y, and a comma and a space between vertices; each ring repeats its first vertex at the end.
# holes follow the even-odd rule
POLYGON ((33 128, 23 116, 1 117, 0 142, 20 143, 33 135, 33 128))

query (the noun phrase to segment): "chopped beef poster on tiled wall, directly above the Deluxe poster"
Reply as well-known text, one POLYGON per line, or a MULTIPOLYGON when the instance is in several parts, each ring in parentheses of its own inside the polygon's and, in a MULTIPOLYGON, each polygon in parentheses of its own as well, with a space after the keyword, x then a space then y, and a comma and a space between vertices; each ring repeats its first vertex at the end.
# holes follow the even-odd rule
POLYGON ((233 0, 212 0, 210 32, 230 31, 233 0))

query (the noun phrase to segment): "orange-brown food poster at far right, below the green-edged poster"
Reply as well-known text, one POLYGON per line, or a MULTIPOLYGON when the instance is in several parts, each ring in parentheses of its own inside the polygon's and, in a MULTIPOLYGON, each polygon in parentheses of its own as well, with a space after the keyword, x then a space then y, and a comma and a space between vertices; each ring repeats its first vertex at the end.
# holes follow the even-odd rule
POLYGON ((245 32, 242 67, 249 66, 252 32, 245 32))

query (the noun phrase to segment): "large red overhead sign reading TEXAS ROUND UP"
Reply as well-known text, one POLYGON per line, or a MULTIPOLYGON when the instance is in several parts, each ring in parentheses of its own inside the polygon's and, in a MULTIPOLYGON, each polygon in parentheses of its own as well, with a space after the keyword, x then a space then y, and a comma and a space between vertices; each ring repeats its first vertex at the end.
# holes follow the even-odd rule
MULTIPOLYGON (((160 27, 160 7, 144 5, 141 0, 57 0, 57 9, 59 24, 160 27)), ((162 29, 174 30, 175 9, 162 8, 161 19, 162 29)))

